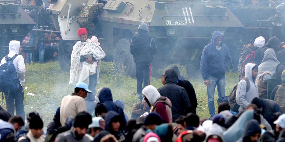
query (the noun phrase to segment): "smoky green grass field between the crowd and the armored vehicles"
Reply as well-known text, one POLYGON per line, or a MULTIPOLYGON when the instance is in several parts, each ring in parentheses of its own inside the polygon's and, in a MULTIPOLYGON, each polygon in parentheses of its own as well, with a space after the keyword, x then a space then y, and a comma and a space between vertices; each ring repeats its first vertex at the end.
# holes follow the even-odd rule
MULTIPOLYGON (((172 66, 172 65, 170 65, 172 66)), ((184 66, 179 66, 182 76, 186 75, 184 66)), ((164 70, 162 70, 164 72, 164 70)), ((228 72, 226 74, 226 96, 238 83, 238 74, 228 72)), ((201 79, 201 75, 196 78, 187 78, 196 91, 198 100, 197 114, 200 118, 209 118, 207 107, 207 90, 201 79)), ((123 76, 115 70, 113 62, 103 62, 100 71, 99 83, 96 90, 101 87, 109 87, 113 94, 114 101, 120 99, 124 102, 125 113, 131 118, 131 110, 136 103, 139 103, 136 91, 136 79, 123 76)), ((26 82, 24 87, 28 90, 24 92, 25 113, 37 110, 43 118, 44 126, 52 120, 56 108, 60 106, 61 99, 70 95, 74 87, 69 85, 69 72, 60 69, 59 62, 47 62, 44 64, 26 65, 26 82), (27 96, 27 93, 34 93, 35 96, 27 96)), ((157 89, 162 86, 160 78, 151 78, 150 84, 157 89)), ((5 99, 0 102, 3 108, 5 99)), ((215 93, 215 107, 217 111, 217 90, 215 93)))

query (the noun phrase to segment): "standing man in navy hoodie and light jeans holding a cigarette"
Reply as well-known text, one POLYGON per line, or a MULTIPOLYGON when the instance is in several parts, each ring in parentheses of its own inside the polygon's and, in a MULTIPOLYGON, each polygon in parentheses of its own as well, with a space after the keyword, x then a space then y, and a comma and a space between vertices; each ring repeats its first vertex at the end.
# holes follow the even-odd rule
MULTIPOLYGON (((217 86, 219 99, 225 97, 225 73, 231 66, 229 49, 223 44, 224 36, 214 31, 211 43, 204 47, 201 56, 201 74, 207 87, 208 107, 211 117, 215 115, 214 93, 217 86)), ((219 100, 218 100, 219 101, 219 100)))

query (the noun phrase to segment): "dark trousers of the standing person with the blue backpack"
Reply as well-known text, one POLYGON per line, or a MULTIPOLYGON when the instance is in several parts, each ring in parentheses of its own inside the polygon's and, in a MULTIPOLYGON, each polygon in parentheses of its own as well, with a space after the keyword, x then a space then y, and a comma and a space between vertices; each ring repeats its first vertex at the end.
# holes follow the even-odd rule
POLYGON ((16 115, 19 115, 25 120, 25 110, 24 110, 24 89, 22 85, 19 85, 19 89, 16 91, 4 92, 6 99, 6 109, 7 111, 14 116, 15 107, 16 115))

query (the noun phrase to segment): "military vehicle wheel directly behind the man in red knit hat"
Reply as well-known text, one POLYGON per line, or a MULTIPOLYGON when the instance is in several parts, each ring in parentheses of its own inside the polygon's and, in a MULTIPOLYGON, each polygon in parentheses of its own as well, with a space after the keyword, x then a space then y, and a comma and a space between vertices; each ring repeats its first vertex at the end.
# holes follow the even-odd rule
POLYGON ((58 60, 63 71, 70 71, 70 57, 76 40, 61 40, 58 49, 58 60))

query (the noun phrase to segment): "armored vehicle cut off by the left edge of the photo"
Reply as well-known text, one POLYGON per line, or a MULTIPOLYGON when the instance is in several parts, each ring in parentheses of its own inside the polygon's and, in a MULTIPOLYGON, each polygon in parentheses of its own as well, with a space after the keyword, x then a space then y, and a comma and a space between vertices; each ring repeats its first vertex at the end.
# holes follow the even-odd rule
POLYGON ((0 58, 8 54, 11 40, 23 41, 36 24, 16 1, 0 0, 0 58))

